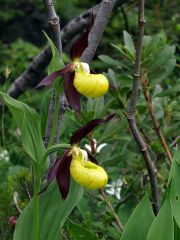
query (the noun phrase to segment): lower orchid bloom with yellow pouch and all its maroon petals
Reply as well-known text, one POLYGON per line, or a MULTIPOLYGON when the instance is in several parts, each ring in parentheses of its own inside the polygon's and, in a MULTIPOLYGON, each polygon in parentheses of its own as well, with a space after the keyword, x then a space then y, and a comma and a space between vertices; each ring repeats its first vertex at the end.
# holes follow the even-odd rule
POLYGON ((86 188, 99 189, 106 185, 108 176, 105 170, 98 165, 97 160, 90 152, 87 153, 79 148, 78 144, 95 127, 109 122, 114 116, 115 114, 111 114, 104 119, 93 119, 77 129, 71 136, 71 147, 51 167, 48 173, 48 185, 56 177, 62 199, 68 195, 70 176, 75 182, 86 188))

